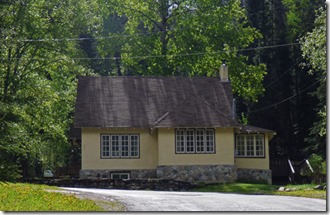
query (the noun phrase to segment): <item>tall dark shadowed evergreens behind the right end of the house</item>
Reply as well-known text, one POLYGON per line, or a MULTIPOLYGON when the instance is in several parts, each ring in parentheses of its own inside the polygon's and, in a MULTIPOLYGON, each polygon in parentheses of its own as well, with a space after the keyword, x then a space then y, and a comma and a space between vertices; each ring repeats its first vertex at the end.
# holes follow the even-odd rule
MULTIPOLYGON (((258 44, 273 46, 258 50, 254 57, 267 65, 265 93, 245 109, 249 123, 277 132, 270 143, 271 157, 308 157, 301 149, 316 116, 316 99, 308 94, 315 87, 315 78, 300 66, 303 58, 297 41, 312 29, 314 8, 322 5, 324 1, 319 0, 247 1, 247 16, 263 35, 258 44)), ((244 105, 238 105, 244 111, 244 105)))

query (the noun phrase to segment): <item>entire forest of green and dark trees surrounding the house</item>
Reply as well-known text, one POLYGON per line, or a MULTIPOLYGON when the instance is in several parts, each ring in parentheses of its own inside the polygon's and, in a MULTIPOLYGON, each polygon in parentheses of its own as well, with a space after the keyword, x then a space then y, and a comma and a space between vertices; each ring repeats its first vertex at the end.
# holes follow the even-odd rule
POLYGON ((79 162, 77 77, 216 76, 272 158, 326 159, 321 0, 1 0, 0 180, 79 162))

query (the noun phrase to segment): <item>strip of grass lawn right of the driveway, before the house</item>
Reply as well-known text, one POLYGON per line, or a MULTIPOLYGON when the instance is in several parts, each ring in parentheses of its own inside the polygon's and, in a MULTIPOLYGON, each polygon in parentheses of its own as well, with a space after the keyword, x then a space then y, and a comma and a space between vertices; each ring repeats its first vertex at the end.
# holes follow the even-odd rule
POLYGON ((267 194, 300 196, 308 198, 326 199, 325 190, 313 190, 316 185, 286 185, 286 188, 295 188, 295 191, 278 191, 279 185, 268 184, 249 184, 249 183, 230 183, 230 184, 211 184, 194 189, 199 192, 223 192, 223 193, 242 193, 242 194, 267 194))

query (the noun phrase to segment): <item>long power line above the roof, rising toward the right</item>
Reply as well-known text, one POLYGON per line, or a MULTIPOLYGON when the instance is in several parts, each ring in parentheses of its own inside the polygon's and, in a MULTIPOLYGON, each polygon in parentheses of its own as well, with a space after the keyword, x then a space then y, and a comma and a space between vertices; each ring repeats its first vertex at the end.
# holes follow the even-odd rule
MULTIPOLYGON (((128 57, 73 57, 68 58, 70 60, 120 60, 120 59, 145 59, 145 58, 164 58, 164 57, 186 57, 186 56, 200 56, 200 55, 216 55, 220 53, 228 53, 228 52, 244 52, 244 51, 253 51, 253 50, 261 50, 261 49, 270 49, 270 48, 280 48, 285 46, 294 46, 300 45, 300 43, 286 43, 272 46, 260 46, 254 48, 245 48, 245 49, 237 49, 237 50, 222 50, 222 51, 214 51, 214 52, 195 52, 195 53, 186 53, 186 54, 172 54, 172 55, 145 55, 145 56, 128 56, 128 57)), ((0 58, 0 60, 47 60, 47 58, 0 58)), ((63 59, 64 60, 64 59, 63 59)))

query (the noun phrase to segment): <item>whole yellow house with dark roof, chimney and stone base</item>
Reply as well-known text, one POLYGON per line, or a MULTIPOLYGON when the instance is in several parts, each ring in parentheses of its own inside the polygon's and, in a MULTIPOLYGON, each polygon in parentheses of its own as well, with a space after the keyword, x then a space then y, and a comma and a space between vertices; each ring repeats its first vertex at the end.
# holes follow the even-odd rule
POLYGON ((80 178, 271 183, 274 131, 234 117, 219 77, 80 77, 74 126, 80 178))

